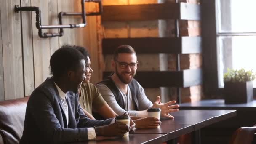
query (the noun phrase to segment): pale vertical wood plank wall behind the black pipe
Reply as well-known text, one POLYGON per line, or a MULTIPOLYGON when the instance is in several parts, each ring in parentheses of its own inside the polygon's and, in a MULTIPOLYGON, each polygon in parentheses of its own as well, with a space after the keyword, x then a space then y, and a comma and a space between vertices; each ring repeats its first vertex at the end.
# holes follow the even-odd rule
MULTIPOLYGON (((40 7, 42 25, 57 25, 60 11, 81 12, 80 1, 0 0, 0 101, 30 95, 50 76, 50 57, 61 45, 85 46, 90 41, 85 41, 89 38, 85 28, 64 29, 63 37, 40 38, 35 12, 15 13, 14 5, 40 7)), ((80 17, 72 16, 63 20, 63 24, 81 21, 80 17)), ((43 32, 58 32, 58 29, 43 29, 43 32)))

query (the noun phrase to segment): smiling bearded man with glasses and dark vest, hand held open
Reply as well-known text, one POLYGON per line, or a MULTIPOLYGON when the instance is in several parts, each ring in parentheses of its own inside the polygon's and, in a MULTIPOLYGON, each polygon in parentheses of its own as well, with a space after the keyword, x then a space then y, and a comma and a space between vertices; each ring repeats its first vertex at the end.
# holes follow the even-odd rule
POLYGON ((134 117, 148 117, 147 109, 160 108, 161 117, 174 118, 169 113, 179 110, 176 101, 162 103, 160 96, 157 96, 157 100, 152 103, 142 86, 133 78, 138 69, 138 61, 136 52, 130 45, 121 45, 115 49, 111 66, 114 69, 113 75, 96 87, 117 114, 127 112, 134 117))

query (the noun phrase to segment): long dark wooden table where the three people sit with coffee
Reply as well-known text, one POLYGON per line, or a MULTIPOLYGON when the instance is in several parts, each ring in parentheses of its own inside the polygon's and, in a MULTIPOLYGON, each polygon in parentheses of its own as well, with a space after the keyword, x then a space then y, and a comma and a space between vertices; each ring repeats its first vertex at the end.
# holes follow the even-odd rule
POLYGON ((221 120, 234 117, 235 110, 180 110, 172 114, 175 119, 162 118, 160 128, 137 129, 129 139, 122 137, 97 137, 95 141, 75 144, 158 144, 173 142, 176 137, 194 132, 193 143, 200 144, 200 129, 221 120))

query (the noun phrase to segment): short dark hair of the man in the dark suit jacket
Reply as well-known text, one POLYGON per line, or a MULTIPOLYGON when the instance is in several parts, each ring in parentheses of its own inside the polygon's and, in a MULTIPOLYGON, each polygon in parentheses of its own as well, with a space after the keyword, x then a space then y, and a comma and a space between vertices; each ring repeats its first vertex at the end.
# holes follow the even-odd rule
POLYGON ((63 45, 53 53, 50 59, 51 74, 55 78, 60 78, 69 70, 76 70, 80 65, 80 61, 85 59, 72 45, 63 45))

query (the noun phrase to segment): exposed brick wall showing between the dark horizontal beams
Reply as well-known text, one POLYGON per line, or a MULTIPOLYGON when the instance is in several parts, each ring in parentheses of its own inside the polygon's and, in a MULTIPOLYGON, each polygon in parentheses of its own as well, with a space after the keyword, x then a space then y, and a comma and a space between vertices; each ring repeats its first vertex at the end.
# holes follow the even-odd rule
MULTIPOLYGON (((136 5, 161 3, 164 1, 174 3, 175 0, 102 0, 103 5, 136 5)), ((199 0, 179 0, 185 3, 199 3, 199 0)), ((174 37, 174 20, 166 20, 166 33, 168 37, 174 37)), ((200 35, 199 21, 179 21, 181 36, 200 35)), ((133 37, 161 37, 160 22, 156 21, 128 21, 116 22, 108 21, 102 23, 102 38, 133 38, 133 37)), ((165 36, 167 36, 165 35, 165 36)), ((101 45, 100 45, 101 46, 101 45)), ((100 48, 101 49, 101 48, 100 48)), ((139 61, 138 71, 161 71, 176 70, 176 57, 174 54, 137 54, 139 61)), ((112 55, 104 55, 104 63, 101 66, 103 71, 112 71, 112 55)), ((184 54, 180 58, 181 69, 193 69, 201 67, 201 54, 184 54)), ((168 89, 168 88, 167 88, 168 89)), ((169 88, 167 91, 160 91, 160 88, 145 88, 145 92, 151 101, 158 95, 163 96, 163 101, 176 99, 176 88, 169 88), (167 93, 165 93, 167 92, 167 93)), ((201 85, 188 88, 181 88, 181 97, 183 102, 198 101, 201 99, 201 85)))

